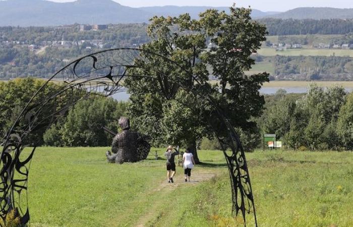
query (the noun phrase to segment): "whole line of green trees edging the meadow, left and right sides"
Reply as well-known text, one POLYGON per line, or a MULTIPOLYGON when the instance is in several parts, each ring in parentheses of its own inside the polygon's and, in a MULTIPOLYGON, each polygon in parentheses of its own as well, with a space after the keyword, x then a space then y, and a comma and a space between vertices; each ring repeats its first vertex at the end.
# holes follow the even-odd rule
MULTIPOLYGON (((32 78, 0 82, 2 137, 43 83, 32 78)), ((60 89, 60 86, 50 84, 42 97, 53 89, 60 89)), ((286 94, 279 90, 274 95, 265 95, 265 101, 263 114, 256 119, 258 130, 236 129, 247 151, 262 146, 264 133, 276 134, 288 149, 353 150, 353 93, 347 94, 338 86, 322 88, 312 85, 306 94, 286 94)), ((83 98, 62 118, 34 136, 39 145, 109 146, 112 135, 101 127, 118 132, 117 121, 121 116, 127 116, 127 108, 128 102, 112 98, 83 98)), ((131 121, 134 128, 134 119, 131 121)), ((212 138, 199 141, 199 146, 202 149, 220 148, 212 138)))

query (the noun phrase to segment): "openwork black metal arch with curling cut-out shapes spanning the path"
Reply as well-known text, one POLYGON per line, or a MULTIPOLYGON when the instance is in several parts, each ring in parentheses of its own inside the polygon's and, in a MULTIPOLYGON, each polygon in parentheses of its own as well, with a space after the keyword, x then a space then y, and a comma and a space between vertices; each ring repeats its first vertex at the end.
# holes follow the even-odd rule
MULTIPOLYGON (((29 221, 28 202, 25 200, 26 204, 20 204, 20 196, 25 194, 27 198, 29 166, 36 148, 36 144, 31 141, 30 135, 50 126, 58 116, 62 116, 71 106, 86 97, 87 94, 109 96, 124 91, 122 80, 127 77, 157 80, 156 77, 151 75, 127 74, 131 68, 145 67, 144 69, 146 69, 147 65, 138 63, 148 63, 149 55, 157 56, 159 59, 174 65, 182 72, 192 75, 190 71, 184 69, 178 63, 160 54, 138 48, 116 48, 88 54, 71 62, 55 73, 38 89, 4 138, 4 147, 0 156, 0 217, 4 221, 7 213, 12 209, 19 211, 21 223, 25 224, 29 221), (48 87, 50 81, 60 81, 62 83, 56 85, 58 90, 50 91, 46 97, 39 99, 39 94, 48 87), (66 104, 57 106, 56 99, 64 99, 66 104), (27 157, 23 157, 22 151, 28 145, 33 147, 32 152, 27 157)), ((148 70, 163 73, 156 68, 148 68, 148 70)), ((220 123, 228 131, 226 138, 216 136, 223 147, 223 153, 228 165, 232 190, 232 211, 236 215, 241 211, 245 224, 246 213, 253 212, 255 225, 257 225, 247 162, 239 136, 226 116, 223 115, 217 103, 213 101, 211 94, 204 92, 205 90, 211 91, 210 85, 202 83, 196 76, 192 76, 200 90, 195 91, 190 88, 184 88, 196 94, 198 92, 206 94, 205 100, 215 107, 220 123), (231 149, 231 154, 226 152, 227 147, 231 149)))

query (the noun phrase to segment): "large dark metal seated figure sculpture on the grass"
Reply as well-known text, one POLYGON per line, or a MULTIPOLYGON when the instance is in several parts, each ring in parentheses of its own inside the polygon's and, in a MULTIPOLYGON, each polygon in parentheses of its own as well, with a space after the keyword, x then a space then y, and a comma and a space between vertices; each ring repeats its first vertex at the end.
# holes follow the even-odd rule
MULTIPOLYGON (((111 144, 111 152, 106 152, 108 162, 122 164, 124 162, 136 162, 147 158, 151 145, 146 136, 130 130, 130 120, 121 117, 119 126, 122 132, 115 135, 111 144)), ((106 130, 112 133, 109 130, 106 130)), ((113 133, 112 133, 113 134, 113 133)))

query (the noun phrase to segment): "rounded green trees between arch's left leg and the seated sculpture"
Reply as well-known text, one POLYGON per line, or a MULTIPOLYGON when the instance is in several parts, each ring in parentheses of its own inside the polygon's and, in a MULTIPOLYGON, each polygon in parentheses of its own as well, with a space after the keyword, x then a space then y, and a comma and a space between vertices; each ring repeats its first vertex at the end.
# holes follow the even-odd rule
POLYGON ((46 132, 45 142, 47 145, 58 145, 61 141, 64 146, 107 146, 113 136, 104 132, 102 126, 117 132, 117 122, 124 115, 126 105, 101 97, 79 101, 69 111, 61 128, 56 124, 46 132))

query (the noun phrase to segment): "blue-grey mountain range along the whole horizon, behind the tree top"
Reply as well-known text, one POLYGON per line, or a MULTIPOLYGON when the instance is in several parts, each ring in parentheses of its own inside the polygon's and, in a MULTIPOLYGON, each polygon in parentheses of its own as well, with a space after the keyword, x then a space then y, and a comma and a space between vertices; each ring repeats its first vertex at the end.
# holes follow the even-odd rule
MULTIPOLYGON (((197 18, 200 12, 213 8, 229 12, 228 7, 141 7, 122 6, 112 0, 77 0, 54 3, 45 0, 0 1, 0 26, 57 26, 67 24, 144 23, 157 16, 178 16, 189 13, 197 18)), ((253 18, 328 19, 353 18, 353 9, 297 8, 284 13, 253 10, 253 18)))

